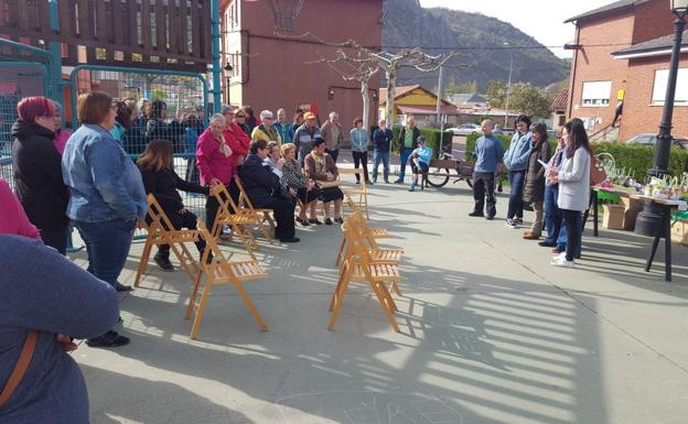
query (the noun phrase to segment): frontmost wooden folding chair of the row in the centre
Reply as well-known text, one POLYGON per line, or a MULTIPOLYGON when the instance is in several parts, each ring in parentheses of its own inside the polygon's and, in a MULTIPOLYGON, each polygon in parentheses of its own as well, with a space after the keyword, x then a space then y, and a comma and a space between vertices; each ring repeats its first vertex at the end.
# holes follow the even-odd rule
POLYGON ((398 264, 390 261, 376 261, 370 258, 369 252, 365 248, 363 238, 353 230, 351 221, 344 222, 342 226, 344 230, 344 237, 346 242, 351 246, 351 256, 344 258, 342 267, 340 269, 340 278, 337 285, 332 295, 330 302, 330 311, 332 316, 330 317, 330 325, 327 329, 334 330, 336 318, 342 308, 344 302, 344 294, 351 282, 368 282, 370 289, 377 296, 377 300, 383 308, 383 312, 387 316, 391 328, 399 333, 399 326, 394 318, 394 312, 397 306, 391 298, 391 294, 387 290, 385 282, 396 284, 404 280, 399 274, 398 264))

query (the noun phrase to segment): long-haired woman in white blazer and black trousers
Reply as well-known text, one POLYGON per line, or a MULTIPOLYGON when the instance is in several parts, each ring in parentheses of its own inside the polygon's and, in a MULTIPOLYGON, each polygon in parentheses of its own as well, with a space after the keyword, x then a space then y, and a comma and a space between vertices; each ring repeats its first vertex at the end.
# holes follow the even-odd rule
POLYGON ((552 184, 559 183, 557 205, 563 214, 567 228, 567 250, 556 257, 551 264, 556 267, 573 268, 573 254, 580 246, 581 233, 578 221, 581 213, 590 205, 590 164, 591 150, 583 121, 571 119, 563 126, 562 137, 566 141, 563 162, 560 167, 549 168, 549 178, 552 184))

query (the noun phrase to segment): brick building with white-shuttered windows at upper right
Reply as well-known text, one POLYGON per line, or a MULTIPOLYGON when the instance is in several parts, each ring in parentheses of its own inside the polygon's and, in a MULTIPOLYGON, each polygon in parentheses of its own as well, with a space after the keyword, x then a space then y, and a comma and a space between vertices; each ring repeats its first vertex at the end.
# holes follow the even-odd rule
MULTIPOLYGON (((669 54, 628 54, 636 46, 673 34, 674 19, 665 0, 622 0, 567 20, 576 24, 578 48, 571 61, 567 116, 583 119, 591 132, 603 131, 612 123, 616 105, 623 99, 621 140, 657 131, 662 105, 648 99, 655 91, 655 72, 668 68, 669 54)), ((663 74, 658 75, 662 78, 663 74)), ((681 128, 686 126, 686 120, 681 122, 679 118, 681 113, 685 110, 677 109, 676 133, 688 132, 688 128, 681 128)))

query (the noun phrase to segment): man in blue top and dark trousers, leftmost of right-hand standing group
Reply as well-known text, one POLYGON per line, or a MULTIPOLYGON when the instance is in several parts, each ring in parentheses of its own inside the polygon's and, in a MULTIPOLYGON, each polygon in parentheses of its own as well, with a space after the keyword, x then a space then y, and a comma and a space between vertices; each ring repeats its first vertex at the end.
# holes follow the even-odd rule
POLYGON ((473 199, 475 206, 469 214, 472 217, 494 219, 497 214, 497 200, 494 195, 494 180, 497 165, 502 162, 504 149, 502 141, 492 133, 492 120, 485 119, 482 124, 483 137, 475 142, 475 168, 473 170, 473 199), (487 210, 483 214, 487 198, 487 210))

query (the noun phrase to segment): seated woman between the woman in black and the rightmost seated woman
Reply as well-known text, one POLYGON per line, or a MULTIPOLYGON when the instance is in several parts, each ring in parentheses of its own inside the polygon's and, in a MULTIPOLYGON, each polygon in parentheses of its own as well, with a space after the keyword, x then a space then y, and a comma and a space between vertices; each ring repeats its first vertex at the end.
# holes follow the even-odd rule
POLYGON ((310 208, 311 221, 318 221, 318 213, 315 207, 318 206, 318 199, 320 198, 320 188, 315 185, 315 182, 308 178, 303 174, 301 164, 297 161, 297 145, 293 143, 282 144, 282 157, 284 164, 282 165, 282 174, 289 188, 297 191, 297 197, 301 200, 301 210, 297 220, 302 226, 308 227, 309 219, 305 218, 305 211, 310 208))

